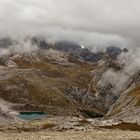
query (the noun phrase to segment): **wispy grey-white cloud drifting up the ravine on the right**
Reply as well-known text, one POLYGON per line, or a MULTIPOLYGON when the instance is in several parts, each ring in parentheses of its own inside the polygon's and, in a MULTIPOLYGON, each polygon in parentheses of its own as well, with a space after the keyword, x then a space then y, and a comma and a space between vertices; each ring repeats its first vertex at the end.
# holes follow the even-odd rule
POLYGON ((121 70, 107 69, 98 86, 105 88, 106 103, 110 106, 114 97, 119 97, 127 88, 132 88, 138 84, 136 79, 140 72, 140 48, 130 49, 127 53, 121 53, 116 62, 121 66, 121 70), (133 82, 132 82, 133 81, 133 82), (130 86, 130 83, 133 84, 130 86))

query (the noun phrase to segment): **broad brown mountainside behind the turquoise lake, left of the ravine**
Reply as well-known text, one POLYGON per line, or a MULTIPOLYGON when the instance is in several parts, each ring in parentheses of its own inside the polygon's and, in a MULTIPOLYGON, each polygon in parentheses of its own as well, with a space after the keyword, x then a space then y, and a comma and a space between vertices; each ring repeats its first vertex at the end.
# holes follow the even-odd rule
MULTIPOLYGON (((95 64, 53 49, 5 56, 1 58, 0 97, 15 103, 13 108, 20 111, 75 114, 82 107, 95 68, 95 64)), ((93 87, 90 92, 94 96, 93 87)))

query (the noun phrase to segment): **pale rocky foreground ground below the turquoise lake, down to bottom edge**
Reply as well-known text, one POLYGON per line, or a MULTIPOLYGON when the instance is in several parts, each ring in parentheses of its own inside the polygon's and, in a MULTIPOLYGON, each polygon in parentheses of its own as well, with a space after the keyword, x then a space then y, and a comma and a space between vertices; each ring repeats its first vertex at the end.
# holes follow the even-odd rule
POLYGON ((92 126, 90 120, 56 117, 0 128, 2 140, 132 140, 140 133, 92 126))

